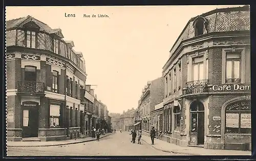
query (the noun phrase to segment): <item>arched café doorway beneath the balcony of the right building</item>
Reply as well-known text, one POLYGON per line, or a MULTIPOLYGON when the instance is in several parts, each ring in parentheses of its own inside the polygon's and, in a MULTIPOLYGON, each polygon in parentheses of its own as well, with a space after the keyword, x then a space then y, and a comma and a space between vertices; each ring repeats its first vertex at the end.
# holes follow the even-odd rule
POLYGON ((194 101, 190 105, 190 145, 204 144, 204 105, 194 101))

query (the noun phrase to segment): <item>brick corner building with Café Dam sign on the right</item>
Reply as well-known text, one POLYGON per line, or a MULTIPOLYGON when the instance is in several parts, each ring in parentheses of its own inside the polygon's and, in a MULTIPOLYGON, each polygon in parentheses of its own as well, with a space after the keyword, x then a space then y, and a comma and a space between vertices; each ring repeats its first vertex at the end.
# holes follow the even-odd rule
POLYGON ((248 6, 191 18, 170 50, 163 77, 162 140, 251 150, 248 6))

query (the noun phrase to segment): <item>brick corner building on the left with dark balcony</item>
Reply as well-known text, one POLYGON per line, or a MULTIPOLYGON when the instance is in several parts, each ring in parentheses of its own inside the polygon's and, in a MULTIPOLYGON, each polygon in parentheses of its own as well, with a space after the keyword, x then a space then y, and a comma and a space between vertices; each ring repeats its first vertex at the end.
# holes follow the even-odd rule
POLYGON ((40 141, 79 138, 83 133, 87 78, 82 53, 31 16, 6 22, 7 138, 40 141))

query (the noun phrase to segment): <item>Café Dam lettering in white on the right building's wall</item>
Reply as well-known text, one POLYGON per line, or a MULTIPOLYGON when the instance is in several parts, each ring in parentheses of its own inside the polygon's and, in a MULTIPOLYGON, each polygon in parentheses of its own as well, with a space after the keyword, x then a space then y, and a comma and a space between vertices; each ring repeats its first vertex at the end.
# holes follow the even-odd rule
POLYGON ((251 85, 243 84, 220 84, 213 85, 213 91, 250 91, 251 85))

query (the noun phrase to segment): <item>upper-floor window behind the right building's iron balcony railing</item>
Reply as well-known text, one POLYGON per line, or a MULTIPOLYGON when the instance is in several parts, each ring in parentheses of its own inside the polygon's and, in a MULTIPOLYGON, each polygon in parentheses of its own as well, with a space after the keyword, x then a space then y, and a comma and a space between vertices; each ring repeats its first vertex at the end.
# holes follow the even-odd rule
POLYGON ((193 81, 204 79, 203 57, 193 59, 193 81))

